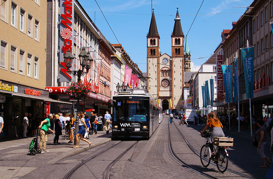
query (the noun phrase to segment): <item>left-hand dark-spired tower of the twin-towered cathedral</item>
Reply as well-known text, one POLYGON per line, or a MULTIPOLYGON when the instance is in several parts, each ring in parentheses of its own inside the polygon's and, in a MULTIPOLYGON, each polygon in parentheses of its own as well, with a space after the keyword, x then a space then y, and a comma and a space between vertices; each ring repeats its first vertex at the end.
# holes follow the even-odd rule
POLYGON ((147 79, 147 90, 150 94, 156 95, 159 95, 159 39, 153 12, 149 32, 147 33, 147 76, 151 77, 147 79))

